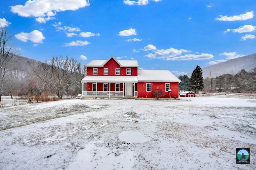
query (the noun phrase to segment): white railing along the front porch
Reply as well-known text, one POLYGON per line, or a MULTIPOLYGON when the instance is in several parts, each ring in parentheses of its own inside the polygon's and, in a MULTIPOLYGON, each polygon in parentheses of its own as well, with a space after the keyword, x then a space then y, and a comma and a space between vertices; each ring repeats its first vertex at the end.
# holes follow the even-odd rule
POLYGON ((123 92, 122 91, 83 91, 83 96, 123 97, 123 92))

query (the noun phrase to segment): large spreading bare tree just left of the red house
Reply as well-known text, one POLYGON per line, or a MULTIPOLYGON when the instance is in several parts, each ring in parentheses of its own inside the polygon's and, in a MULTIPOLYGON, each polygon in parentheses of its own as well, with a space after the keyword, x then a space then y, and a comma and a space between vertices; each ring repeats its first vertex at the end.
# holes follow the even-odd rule
POLYGON ((82 71, 81 64, 74 58, 53 57, 48 62, 32 66, 32 69, 40 86, 47 87, 49 92, 55 92, 59 99, 62 99, 63 94, 74 90, 74 87, 80 86, 76 82, 76 75, 80 75, 82 71))

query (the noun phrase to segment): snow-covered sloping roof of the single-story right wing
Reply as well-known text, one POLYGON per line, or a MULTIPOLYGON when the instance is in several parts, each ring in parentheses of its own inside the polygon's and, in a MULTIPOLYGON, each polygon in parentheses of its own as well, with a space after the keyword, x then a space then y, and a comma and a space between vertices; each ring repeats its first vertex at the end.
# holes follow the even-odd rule
POLYGON ((169 70, 138 70, 139 82, 181 82, 169 70))

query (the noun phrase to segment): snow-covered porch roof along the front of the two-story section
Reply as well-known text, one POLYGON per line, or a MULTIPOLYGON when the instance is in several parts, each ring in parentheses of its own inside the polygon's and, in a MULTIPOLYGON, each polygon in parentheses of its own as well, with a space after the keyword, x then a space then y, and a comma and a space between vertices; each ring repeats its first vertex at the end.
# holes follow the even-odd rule
POLYGON ((82 82, 138 82, 137 76, 85 76, 82 82))

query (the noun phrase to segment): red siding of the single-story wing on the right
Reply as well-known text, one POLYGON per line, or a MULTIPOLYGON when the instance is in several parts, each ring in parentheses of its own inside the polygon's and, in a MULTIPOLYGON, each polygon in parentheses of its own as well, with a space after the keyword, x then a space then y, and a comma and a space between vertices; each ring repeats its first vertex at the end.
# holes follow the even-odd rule
POLYGON ((178 82, 138 82, 138 98, 153 98, 153 90, 163 90, 164 98, 169 98, 169 92, 165 92, 165 84, 170 83, 171 86, 171 98, 178 98, 179 96, 179 84, 178 82), (151 92, 146 92, 146 83, 151 83, 151 92))

